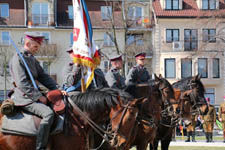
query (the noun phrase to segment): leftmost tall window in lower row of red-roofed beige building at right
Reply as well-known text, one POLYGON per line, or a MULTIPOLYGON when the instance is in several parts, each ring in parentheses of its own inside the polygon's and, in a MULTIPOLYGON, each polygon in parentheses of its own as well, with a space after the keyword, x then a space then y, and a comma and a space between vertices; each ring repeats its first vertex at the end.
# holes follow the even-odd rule
POLYGON ((176 77, 176 66, 174 58, 165 59, 165 77, 166 78, 176 77))

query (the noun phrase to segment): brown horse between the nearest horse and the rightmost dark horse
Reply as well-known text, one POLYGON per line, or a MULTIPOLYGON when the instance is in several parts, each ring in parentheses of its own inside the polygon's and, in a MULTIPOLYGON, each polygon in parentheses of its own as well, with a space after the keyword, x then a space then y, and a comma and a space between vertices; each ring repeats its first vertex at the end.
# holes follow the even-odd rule
POLYGON ((155 79, 147 86, 136 85, 132 93, 135 98, 148 98, 148 101, 139 107, 136 135, 133 135, 133 141, 130 142, 130 146, 136 146, 137 150, 145 150, 148 143, 153 143, 155 139, 161 117, 169 115, 173 119, 177 118, 176 112, 179 107, 175 103, 171 84, 161 75, 159 77, 155 75, 155 79))

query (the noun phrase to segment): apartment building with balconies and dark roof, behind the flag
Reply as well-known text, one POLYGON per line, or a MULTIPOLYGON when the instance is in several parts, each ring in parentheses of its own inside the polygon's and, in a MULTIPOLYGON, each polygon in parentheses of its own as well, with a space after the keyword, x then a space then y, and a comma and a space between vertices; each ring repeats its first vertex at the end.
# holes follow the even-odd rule
MULTIPOLYGON (((126 71, 134 65, 133 55, 137 51, 147 52, 147 67, 152 70, 152 22, 149 1, 127 0, 122 3, 86 0, 86 3, 92 21, 93 38, 107 56, 102 59, 100 66, 103 71, 108 71, 108 57, 115 55, 117 50, 124 54, 126 71), (126 10, 126 27, 122 10, 126 10)), ((0 99, 6 94, 5 90, 11 89, 8 62, 15 53, 15 48, 9 37, 21 48, 26 31, 38 31, 45 36, 45 44, 37 58, 46 73, 62 84, 62 68, 70 61, 65 51, 73 44, 72 0, 0 1, 0 53, 9 57, 0 57, 0 99)))

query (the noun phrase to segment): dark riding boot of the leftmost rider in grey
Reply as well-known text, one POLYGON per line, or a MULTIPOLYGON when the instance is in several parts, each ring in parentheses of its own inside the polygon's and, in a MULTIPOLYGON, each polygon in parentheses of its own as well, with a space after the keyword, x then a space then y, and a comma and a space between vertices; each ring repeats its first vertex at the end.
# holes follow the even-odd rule
POLYGON ((45 150, 47 148, 49 131, 49 124, 40 124, 36 139, 36 150, 45 150))

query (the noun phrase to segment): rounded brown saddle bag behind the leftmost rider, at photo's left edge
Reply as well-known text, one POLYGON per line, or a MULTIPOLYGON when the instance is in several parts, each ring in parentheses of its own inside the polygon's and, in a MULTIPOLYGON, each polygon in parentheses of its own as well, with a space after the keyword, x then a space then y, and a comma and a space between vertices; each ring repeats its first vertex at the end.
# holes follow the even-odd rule
POLYGON ((14 102, 11 99, 6 99, 2 102, 1 113, 3 115, 9 115, 14 112, 14 102))

